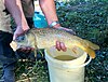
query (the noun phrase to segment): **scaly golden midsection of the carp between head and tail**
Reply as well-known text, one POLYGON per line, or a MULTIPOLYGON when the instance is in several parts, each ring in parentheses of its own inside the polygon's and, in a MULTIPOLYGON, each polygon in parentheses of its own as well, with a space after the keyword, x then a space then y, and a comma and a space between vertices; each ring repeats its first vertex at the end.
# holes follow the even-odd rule
POLYGON ((39 49, 54 46, 56 41, 62 41, 67 47, 71 47, 71 45, 77 41, 75 39, 78 39, 76 36, 71 36, 64 30, 56 30, 52 28, 43 28, 31 31, 36 33, 36 43, 39 49))

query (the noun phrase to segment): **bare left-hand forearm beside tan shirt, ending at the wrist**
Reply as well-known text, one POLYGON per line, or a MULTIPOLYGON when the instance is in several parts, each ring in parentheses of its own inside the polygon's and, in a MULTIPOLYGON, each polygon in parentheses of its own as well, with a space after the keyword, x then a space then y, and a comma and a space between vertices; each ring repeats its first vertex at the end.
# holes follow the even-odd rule
POLYGON ((26 30, 25 25, 27 26, 27 22, 22 10, 21 0, 4 0, 4 4, 15 19, 16 25, 26 30))

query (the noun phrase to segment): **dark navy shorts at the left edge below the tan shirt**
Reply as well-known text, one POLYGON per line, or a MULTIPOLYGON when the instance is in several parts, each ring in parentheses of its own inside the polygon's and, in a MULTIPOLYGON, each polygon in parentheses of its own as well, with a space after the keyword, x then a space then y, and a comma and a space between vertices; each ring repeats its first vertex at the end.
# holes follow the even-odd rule
POLYGON ((12 40, 12 33, 0 30, 0 62, 2 64, 11 64, 17 59, 14 51, 10 46, 12 40))

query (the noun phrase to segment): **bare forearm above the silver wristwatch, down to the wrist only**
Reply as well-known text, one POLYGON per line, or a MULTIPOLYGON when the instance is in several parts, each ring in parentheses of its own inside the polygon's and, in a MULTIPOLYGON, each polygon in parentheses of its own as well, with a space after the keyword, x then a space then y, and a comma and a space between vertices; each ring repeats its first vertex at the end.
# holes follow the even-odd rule
POLYGON ((54 0, 39 0, 39 2, 49 25, 54 20, 58 20, 54 0))

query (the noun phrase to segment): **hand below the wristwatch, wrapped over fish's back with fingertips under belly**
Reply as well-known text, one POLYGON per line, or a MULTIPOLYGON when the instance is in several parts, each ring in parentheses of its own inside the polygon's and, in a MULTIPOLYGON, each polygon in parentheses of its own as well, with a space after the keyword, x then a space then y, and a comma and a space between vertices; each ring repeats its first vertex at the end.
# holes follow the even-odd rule
MULTIPOLYGON (((69 32, 69 33, 71 33, 71 35, 76 35, 76 32, 72 30, 72 29, 68 29, 68 28, 64 28, 64 27, 58 27, 58 28, 56 28, 56 29, 59 29, 59 30, 65 30, 65 31, 67 31, 67 32, 69 32)), ((58 50, 58 51, 64 51, 64 52, 66 52, 67 51, 67 47, 66 47, 66 45, 64 44, 64 42, 59 42, 59 41, 56 41, 56 49, 58 50)))

